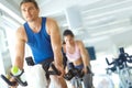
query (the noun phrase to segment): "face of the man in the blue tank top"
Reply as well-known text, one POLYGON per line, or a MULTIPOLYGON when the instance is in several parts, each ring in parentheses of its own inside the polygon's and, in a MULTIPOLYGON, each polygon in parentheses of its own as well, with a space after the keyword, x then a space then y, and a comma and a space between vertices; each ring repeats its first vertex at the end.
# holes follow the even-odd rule
POLYGON ((34 21, 38 16, 40 10, 35 8, 32 2, 26 2, 21 6, 21 12, 23 18, 28 21, 34 21))

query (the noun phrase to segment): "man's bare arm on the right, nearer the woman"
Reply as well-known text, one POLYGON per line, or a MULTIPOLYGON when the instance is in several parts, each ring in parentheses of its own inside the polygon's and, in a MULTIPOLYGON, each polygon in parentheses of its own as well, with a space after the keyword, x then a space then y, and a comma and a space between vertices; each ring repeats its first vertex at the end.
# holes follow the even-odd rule
POLYGON ((54 62, 56 68, 64 74, 63 70, 63 55, 62 55, 62 40, 58 25, 53 19, 46 20, 47 33, 51 35, 51 43, 54 52, 54 62))

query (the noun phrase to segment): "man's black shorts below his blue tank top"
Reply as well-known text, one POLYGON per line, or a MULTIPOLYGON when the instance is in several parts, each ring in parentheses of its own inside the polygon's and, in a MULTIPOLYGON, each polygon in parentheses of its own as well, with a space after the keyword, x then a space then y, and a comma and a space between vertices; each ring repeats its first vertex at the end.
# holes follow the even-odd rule
POLYGON ((47 59, 45 59, 44 62, 41 63, 43 69, 46 73, 45 76, 46 76, 47 79, 50 79, 48 68, 50 68, 50 65, 53 61, 54 61, 54 58, 47 58, 47 59))

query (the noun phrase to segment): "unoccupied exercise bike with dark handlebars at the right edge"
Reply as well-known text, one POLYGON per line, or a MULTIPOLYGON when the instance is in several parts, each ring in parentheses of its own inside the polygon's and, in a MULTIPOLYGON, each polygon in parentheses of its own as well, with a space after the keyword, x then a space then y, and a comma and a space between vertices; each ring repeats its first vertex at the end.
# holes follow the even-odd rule
POLYGON ((113 62, 109 63, 108 58, 106 58, 108 65, 113 65, 107 68, 107 73, 118 74, 120 88, 132 88, 132 67, 128 65, 128 63, 132 63, 132 55, 125 53, 123 47, 120 47, 119 51, 119 57, 114 58, 113 62))

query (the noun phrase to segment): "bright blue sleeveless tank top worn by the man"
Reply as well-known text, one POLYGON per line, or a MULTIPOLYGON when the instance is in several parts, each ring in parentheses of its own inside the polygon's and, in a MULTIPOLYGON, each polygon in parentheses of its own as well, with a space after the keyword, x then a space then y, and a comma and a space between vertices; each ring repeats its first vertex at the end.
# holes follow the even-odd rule
POLYGON ((34 33, 29 26, 28 22, 24 23, 24 29, 28 35, 26 44, 32 50, 35 64, 54 57, 51 38, 46 32, 45 23, 46 18, 42 18, 42 26, 38 33, 34 33))

